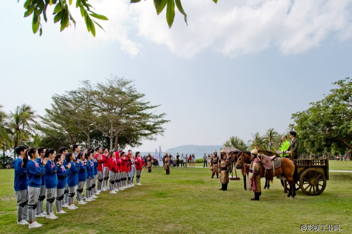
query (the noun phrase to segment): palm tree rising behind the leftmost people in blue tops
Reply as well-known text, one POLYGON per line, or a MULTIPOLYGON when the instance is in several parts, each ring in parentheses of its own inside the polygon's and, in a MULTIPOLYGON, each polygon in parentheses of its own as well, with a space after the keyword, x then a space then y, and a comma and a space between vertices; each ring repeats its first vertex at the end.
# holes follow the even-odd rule
POLYGON ((13 146, 16 148, 32 136, 31 125, 35 122, 35 111, 31 106, 22 104, 17 106, 15 112, 11 112, 9 117, 9 128, 13 132, 13 146))

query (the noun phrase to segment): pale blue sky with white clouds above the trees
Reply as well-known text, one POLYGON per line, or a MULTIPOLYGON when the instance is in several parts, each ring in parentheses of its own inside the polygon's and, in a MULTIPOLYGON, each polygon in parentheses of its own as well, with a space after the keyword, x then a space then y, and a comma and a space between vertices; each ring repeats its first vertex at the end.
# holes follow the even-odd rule
POLYGON ((164 137, 139 151, 285 132, 292 113, 351 76, 352 1, 184 0, 188 26, 176 12, 170 30, 152 1, 91 1, 110 19, 95 38, 74 7, 76 30, 60 33, 49 17, 42 37, 33 35, 23 3, 0 2, 0 104, 8 111, 27 103, 43 114, 53 94, 80 80, 133 79, 171 120, 164 137))

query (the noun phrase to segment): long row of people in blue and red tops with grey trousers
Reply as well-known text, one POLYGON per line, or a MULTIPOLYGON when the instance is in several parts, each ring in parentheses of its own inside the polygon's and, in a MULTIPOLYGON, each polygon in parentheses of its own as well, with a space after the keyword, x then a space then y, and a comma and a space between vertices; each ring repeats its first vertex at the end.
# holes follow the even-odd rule
POLYGON ((12 163, 12 167, 15 169, 17 223, 29 224, 29 228, 42 226, 36 222, 36 217, 58 218, 54 215, 54 201, 56 214, 65 214, 63 207, 69 210, 79 208, 73 204, 75 194, 79 204, 95 200, 96 195, 108 190, 104 180, 109 178, 109 190, 113 194, 134 186, 134 172, 137 174, 137 185, 141 185, 140 174, 142 166, 145 166, 140 153, 137 152, 136 157, 133 157, 131 150, 128 154, 118 151, 102 154, 100 147, 81 152, 79 145, 73 145, 73 153, 68 153, 68 149, 62 147, 60 154, 56 154, 54 149, 28 150, 26 146, 19 145, 15 152, 18 158, 12 163), (82 196, 85 185, 86 201, 82 196))

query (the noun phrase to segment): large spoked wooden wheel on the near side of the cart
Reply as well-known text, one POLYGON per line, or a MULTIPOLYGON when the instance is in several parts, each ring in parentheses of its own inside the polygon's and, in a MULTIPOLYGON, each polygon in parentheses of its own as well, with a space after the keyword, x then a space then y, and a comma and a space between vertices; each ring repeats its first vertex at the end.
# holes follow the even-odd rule
POLYGON ((325 175, 316 168, 309 168, 300 175, 300 188, 309 196, 319 195, 326 187, 325 175))

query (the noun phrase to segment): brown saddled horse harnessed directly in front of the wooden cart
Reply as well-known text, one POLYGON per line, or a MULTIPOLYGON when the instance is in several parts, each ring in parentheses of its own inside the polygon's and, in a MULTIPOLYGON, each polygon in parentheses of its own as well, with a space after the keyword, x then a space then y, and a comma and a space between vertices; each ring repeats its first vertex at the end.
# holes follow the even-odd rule
MULTIPOLYGON (((260 154, 258 154, 257 157, 260 157, 260 154)), ((248 152, 241 152, 237 155, 237 162, 236 162, 236 168, 247 168, 246 164, 250 164, 252 161, 250 161, 250 153, 248 152)), ((289 193, 287 197, 294 198, 296 196, 296 189, 295 189, 295 184, 297 181, 297 165, 291 161, 288 158, 281 158, 281 166, 278 168, 275 168, 275 174, 273 174, 273 170, 267 170, 267 176, 268 178, 273 178, 280 176, 281 174, 286 178, 286 181, 288 182, 290 186, 289 193)), ((262 164, 260 163, 260 178, 265 177, 265 168, 262 164)))

